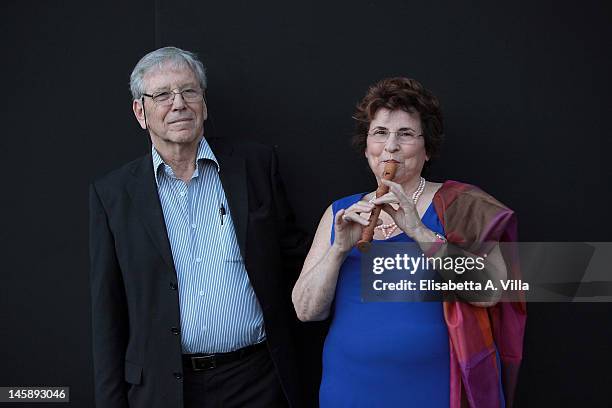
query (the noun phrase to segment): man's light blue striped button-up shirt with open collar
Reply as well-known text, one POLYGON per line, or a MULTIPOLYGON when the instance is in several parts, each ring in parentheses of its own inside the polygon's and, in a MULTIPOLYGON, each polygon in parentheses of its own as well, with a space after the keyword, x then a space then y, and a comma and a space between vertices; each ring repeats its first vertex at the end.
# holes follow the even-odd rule
POLYGON ((240 255, 221 169, 206 139, 188 184, 155 147, 152 156, 178 278, 183 353, 222 353, 263 341, 263 314, 240 255))

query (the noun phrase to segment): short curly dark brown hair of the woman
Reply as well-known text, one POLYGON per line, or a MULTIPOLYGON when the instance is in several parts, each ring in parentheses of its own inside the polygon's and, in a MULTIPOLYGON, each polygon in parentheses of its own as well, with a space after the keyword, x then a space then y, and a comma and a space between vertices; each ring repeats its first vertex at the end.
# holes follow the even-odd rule
POLYGON ((418 112, 425 138, 425 151, 430 158, 438 157, 444 139, 444 122, 440 102, 416 79, 385 78, 366 92, 356 107, 353 119, 357 121, 353 146, 365 152, 370 122, 380 108, 418 112))

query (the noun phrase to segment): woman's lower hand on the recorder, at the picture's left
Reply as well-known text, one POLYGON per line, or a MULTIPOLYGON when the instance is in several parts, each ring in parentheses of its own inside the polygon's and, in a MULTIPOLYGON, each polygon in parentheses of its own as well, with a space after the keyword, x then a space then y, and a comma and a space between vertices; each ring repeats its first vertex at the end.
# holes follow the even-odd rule
POLYGON ((361 215, 374 209, 374 204, 367 201, 358 201, 346 210, 336 213, 334 218, 334 244, 340 252, 347 253, 361 238, 363 227, 369 224, 368 218, 361 215))

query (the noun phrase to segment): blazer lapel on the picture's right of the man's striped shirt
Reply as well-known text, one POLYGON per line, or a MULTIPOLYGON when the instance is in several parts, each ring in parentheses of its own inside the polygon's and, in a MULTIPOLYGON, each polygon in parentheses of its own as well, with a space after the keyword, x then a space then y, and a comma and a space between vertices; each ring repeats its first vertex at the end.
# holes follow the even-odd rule
POLYGON ((233 154, 230 142, 222 139, 207 139, 219 161, 219 176, 230 206, 232 221, 242 259, 246 260, 246 232, 248 221, 248 191, 246 163, 242 157, 233 154))

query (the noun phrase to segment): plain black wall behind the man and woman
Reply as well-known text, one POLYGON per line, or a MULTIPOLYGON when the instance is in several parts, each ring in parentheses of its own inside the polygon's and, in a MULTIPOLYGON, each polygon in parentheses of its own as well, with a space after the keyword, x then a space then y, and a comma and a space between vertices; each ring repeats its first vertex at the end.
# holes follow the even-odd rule
MULTIPOLYGON (((369 84, 403 75, 445 112, 431 179, 496 196, 518 213, 523 241, 611 240, 609 2, 13 1, 0 10, 0 386, 67 385, 70 406, 93 406, 87 185, 149 149, 129 73, 164 45, 207 65, 211 131, 278 145, 311 232, 331 201, 373 188, 349 147, 351 114, 369 84)), ((608 303, 530 304, 517 405, 612 406, 611 316, 608 303)), ((322 331, 313 326, 313 344, 322 331)))

